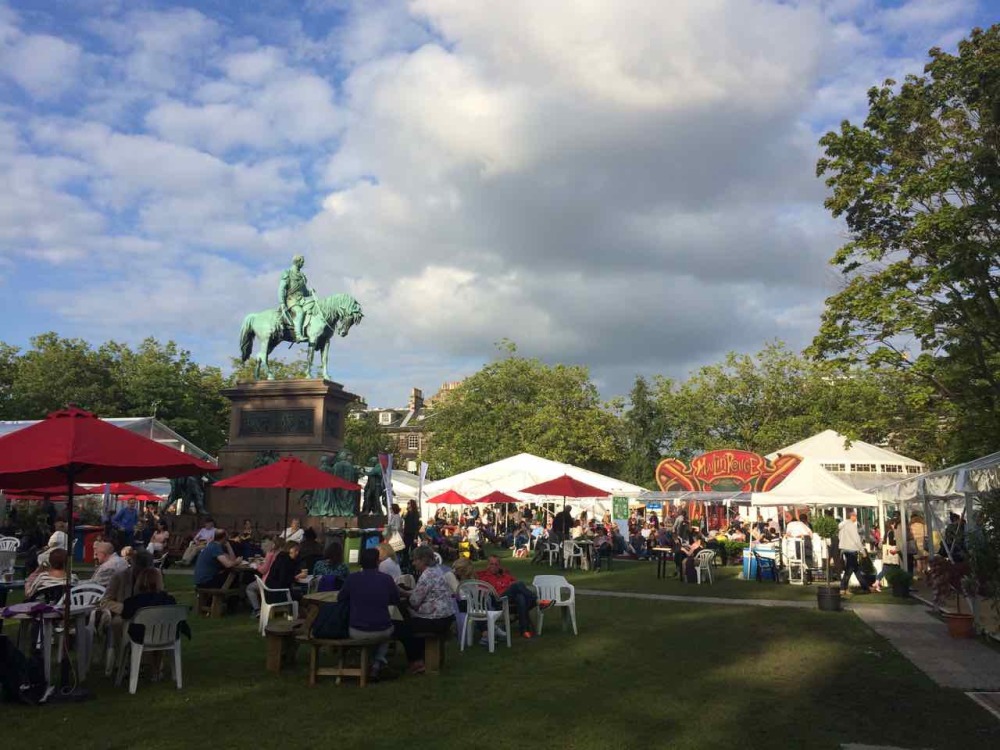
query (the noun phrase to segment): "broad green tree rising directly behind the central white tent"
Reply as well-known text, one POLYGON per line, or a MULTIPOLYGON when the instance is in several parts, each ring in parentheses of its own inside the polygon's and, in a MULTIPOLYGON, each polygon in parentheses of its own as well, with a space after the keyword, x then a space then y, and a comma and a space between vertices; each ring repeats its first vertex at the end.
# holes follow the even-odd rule
POLYGON ((585 367, 507 355, 434 405, 432 476, 446 477, 528 452, 604 471, 620 460, 619 422, 585 367))

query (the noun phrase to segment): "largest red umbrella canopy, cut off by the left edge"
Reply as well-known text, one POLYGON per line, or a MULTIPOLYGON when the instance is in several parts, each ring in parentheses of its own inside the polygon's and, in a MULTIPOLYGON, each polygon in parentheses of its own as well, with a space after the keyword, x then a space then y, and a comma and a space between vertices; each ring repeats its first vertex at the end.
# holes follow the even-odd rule
POLYGON ((74 481, 97 483, 218 470, 76 407, 0 437, 0 487, 67 486, 70 471, 74 481))

